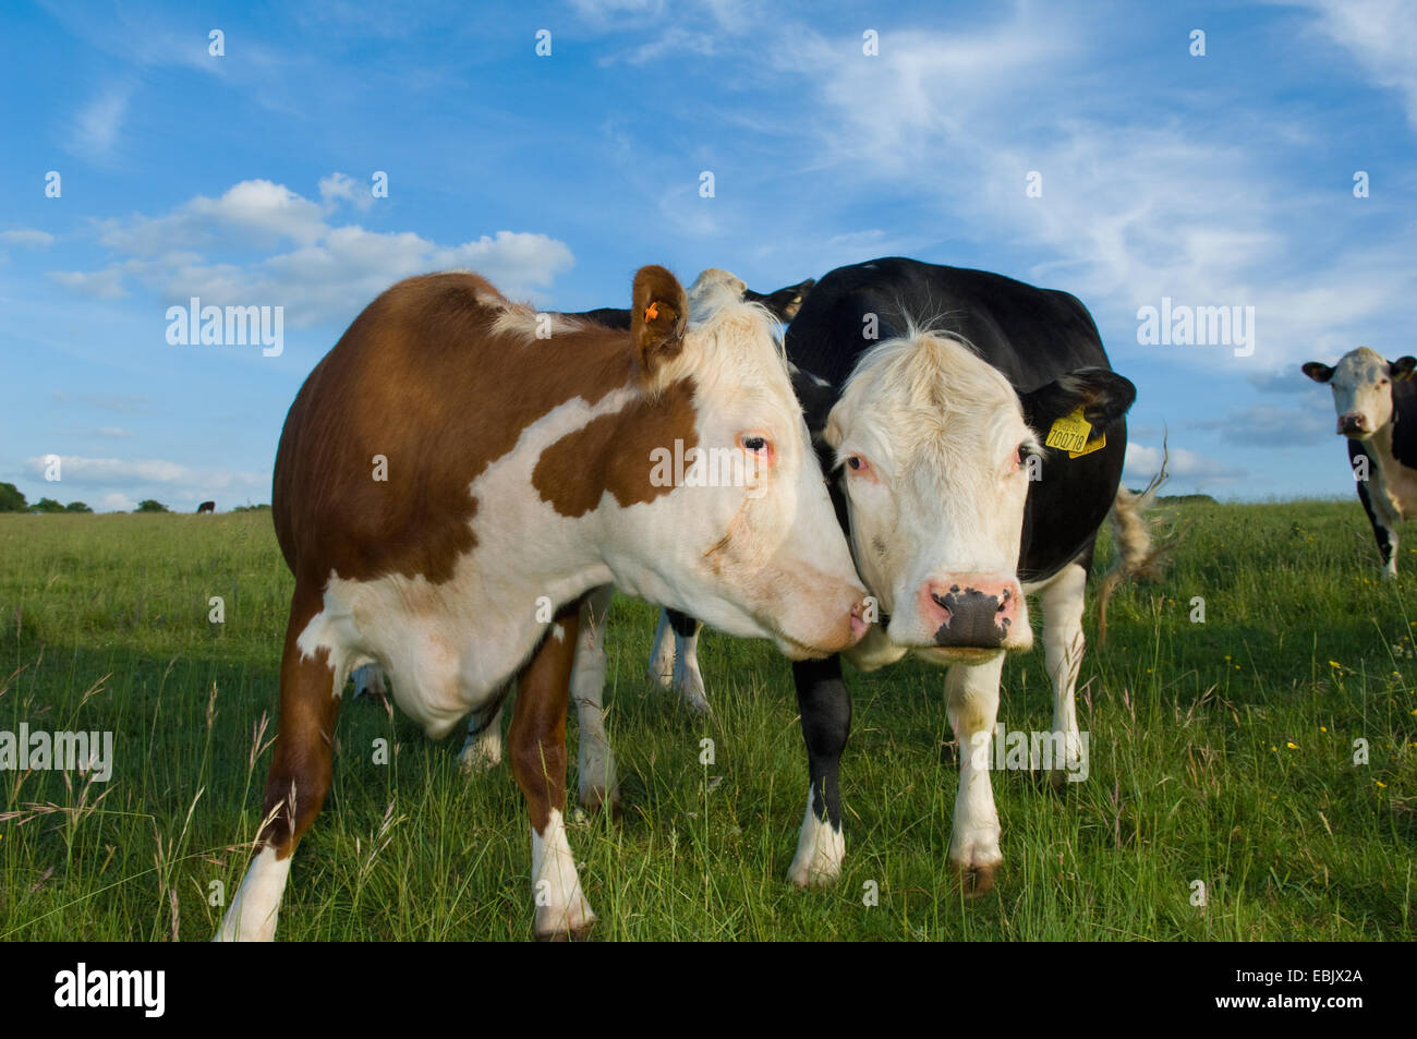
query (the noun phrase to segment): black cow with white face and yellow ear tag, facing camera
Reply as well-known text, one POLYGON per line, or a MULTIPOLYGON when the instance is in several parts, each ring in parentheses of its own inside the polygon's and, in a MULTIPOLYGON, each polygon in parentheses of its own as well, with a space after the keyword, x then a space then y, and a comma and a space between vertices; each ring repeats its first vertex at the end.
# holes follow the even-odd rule
MULTIPOLYGON (((911 651, 948 668, 961 748, 949 859, 968 890, 986 890, 1002 860, 988 747, 1005 653, 1033 644, 1026 595, 1036 592, 1043 608, 1058 775, 1081 764, 1074 689, 1084 588, 1110 510, 1121 571, 1151 557, 1136 496, 1118 488, 1135 388, 1111 371, 1074 296, 901 258, 822 278, 788 327, 786 347, 837 516, 880 608, 846 655, 867 670, 911 651), (1083 449, 1046 448, 1058 420, 1074 412, 1087 427, 1083 449)), ((691 676, 690 696, 701 697, 696 631, 691 618, 663 615, 650 673, 691 676)), ((594 746, 604 744, 604 666, 591 635, 572 692, 582 741, 591 733, 594 746)), ((837 770, 850 696, 839 656, 796 663, 792 673, 811 787, 789 879, 830 883, 845 852, 837 770)), ((604 756, 582 756, 582 799, 588 791, 592 801, 614 797, 614 758, 608 748, 604 756)))

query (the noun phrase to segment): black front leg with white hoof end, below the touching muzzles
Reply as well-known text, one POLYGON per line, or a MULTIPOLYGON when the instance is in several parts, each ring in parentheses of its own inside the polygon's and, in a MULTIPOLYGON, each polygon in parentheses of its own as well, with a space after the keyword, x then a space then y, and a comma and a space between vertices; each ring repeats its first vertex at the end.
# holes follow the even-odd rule
POLYGON ((837 770, 852 734, 852 695, 842 680, 842 658, 792 665, 811 785, 796 856, 788 879, 799 887, 835 883, 842 875, 842 795, 837 770))

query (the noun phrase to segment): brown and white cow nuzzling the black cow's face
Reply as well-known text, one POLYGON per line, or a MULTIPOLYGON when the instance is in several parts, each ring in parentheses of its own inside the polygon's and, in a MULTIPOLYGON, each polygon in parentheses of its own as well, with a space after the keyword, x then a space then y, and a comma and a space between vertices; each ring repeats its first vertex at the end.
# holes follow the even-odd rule
MULTIPOLYGON (((594 588, 769 638, 853 645, 864 588, 774 322, 707 278, 642 268, 632 327, 537 315, 473 274, 400 282, 306 380, 272 515, 296 578, 264 824, 220 938, 271 938, 290 855, 330 784, 350 670, 378 663, 431 737, 517 699, 536 933, 588 926, 563 825, 578 614, 594 588), (360 407, 350 407, 360 401, 360 407), (738 485, 657 479, 656 449, 730 452, 738 485)), ((741 285, 741 283, 740 283, 741 285)))

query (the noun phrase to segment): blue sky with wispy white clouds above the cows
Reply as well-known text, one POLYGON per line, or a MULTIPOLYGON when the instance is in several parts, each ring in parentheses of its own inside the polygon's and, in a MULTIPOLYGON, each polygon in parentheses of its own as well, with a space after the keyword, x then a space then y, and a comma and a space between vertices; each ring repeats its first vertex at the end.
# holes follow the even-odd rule
POLYGON ((1138 386, 1129 482, 1166 431, 1173 492, 1352 493, 1298 366, 1417 353, 1417 4, 820 7, 6 4, 0 481, 268 502, 300 381, 412 274, 574 310, 649 262, 898 254, 1080 296, 1138 386), (283 352, 170 344, 190 296, 283 308, 283 352), (1162 298, 1253 306, 1253 354, 1139 343, 1162 298))

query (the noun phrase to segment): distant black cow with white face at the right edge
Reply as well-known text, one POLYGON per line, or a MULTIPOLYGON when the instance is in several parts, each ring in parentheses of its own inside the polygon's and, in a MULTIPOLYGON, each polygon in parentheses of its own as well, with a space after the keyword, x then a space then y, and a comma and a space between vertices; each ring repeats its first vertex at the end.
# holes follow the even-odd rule
POLYGON ((1417 516, 1417 359, 1389 361, 1376 350, 1349 350, 1333 367, 1309 361, 1304 374, 1333 390, 1338 434, 1357 496, 1377 537, 1383 575, 1397 577, 1397 524, 1417 516))

